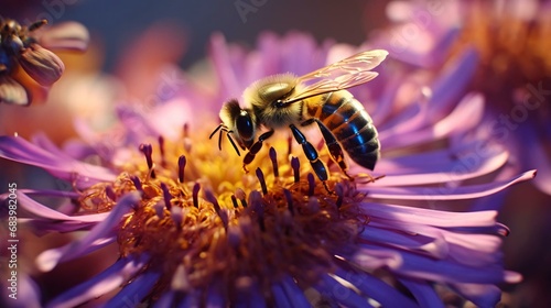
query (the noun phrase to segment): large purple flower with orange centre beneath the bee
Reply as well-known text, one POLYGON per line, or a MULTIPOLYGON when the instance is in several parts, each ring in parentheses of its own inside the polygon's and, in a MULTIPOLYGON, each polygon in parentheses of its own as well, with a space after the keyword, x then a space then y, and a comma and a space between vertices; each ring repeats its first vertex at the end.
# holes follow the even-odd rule
MULTIPOLYGON (((443 305, 439 293, 496 305, 497 285, 521 279, 503 268, 499 246, 508 229, 496 222, 496 210, 444 208, 490 196, 536 172, 491 179, 508 153, 475 133, 483 97, 462 95, 477 61, 473 50, 431 75, 389 62, 369 86, 350 90, 379 130, 375 183, 358 166, 350 167, 357 176, 350 182, 328 164, 326 189, 302 148, 284 135, 269 140, 248 174, 241 157, 208 141, 217 124, 213 109, 252 80, 305 74, 365 48, 318 47, 292 33, 264 34, 249 52, 216 35, 214 72, 204 76, 217 79, 185 75, 176 96, 121 105, 120 125, 104 135, 83 125, 86 142, 64 150, 44 135, 32 142, 0 138, 0 156, 73 185, 71 191, 18 190, 40 232, 87 231, 43 252, 36 260, 42 271, 110 243, 119 248, 115 264, 46 305, 73 307, 114 290, 101 299, 108 307, 432 307, 443 305), (54 210, 33 196, 71 201, 54 210)), ((313 144, 315 135, 307 135, 313 144)), ((324 146, 318 151, 328 162, 324 146)))

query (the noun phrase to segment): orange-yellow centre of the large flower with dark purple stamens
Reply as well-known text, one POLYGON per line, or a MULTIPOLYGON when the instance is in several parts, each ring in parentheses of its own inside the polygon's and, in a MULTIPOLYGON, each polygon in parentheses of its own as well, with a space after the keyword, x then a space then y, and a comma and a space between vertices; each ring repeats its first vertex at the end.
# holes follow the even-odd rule
POLYGON ((287 140, 262 148, 251 173, 229 147, 219 152, 205 140, 143 143, 114 183, 93 186, 79 200, 84 212, 105 212, 122 195, 142 194, 118 226, 118 245, 121 256, 147 255, 148 268, 161 273, 151 299, 184 278, 205 292, 223 279, 235 288, 228 296, 245 280, 269 293, 282 273, 311 285, 334 271, 337 253, 356 246, 369 219, 354 183, 332 174, 328 193, 287 140))

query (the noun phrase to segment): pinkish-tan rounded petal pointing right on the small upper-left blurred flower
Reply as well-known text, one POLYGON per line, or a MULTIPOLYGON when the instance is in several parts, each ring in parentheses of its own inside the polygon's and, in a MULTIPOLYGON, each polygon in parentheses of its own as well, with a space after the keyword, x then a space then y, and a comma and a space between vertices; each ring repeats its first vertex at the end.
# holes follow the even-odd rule
POLYGON ((88 30, 78 22, 63 22, 40 32, 39 43, 48 50, 86 51, 88 30))

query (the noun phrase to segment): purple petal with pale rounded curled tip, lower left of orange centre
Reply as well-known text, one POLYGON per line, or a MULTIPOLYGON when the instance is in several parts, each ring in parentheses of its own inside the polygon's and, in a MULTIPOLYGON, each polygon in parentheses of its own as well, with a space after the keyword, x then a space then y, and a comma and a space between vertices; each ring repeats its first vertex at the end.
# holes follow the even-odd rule
POLYGON ((86 255, 115 241, 114 229, 140 199, 140 194, 137 191, 125 195, 109 212, 109 216, 96 224, 84 238, 65 246, 41 253, 36 258, 36 265, 41 271, 47 272, 54 268, 60 262, 86 255))

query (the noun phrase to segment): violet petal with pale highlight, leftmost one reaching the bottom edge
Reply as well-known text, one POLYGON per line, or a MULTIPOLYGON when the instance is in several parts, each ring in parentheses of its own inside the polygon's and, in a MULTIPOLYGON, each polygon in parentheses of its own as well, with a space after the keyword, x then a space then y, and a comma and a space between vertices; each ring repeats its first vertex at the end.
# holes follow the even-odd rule
POLYGON ((147 260, 121 258, 95 277, 54 298, 46 307, 76 307, 100 297, 130 280, 147 260))

